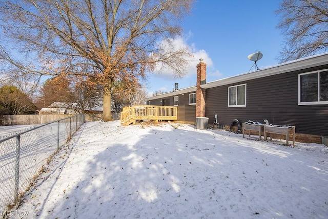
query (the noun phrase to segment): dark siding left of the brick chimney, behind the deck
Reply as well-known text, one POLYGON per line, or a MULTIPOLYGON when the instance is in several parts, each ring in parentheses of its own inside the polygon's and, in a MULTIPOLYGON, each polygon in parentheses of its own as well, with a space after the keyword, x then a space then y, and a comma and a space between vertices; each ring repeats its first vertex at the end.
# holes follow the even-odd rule
MULTIPOLYGON (((195 93, 195 92, 192 92, 192 93, 195 93)), ((181 94, 174 95, 174 96, 179 96, 177 119, 178 119, 178 121, 183 121, 183 122, 187 122, 187 123, 195 123, 195 121, 196 121, 196 105, 189 105, 189 94, 190 93, 185 93, 183 95, 181 95, 181 94)), ((170 106, 173 106, 174 96, 164 97, 165 99, 170 99, 170 106)), ((162 102, 160 102, 161 99, 162 98, 152 99, 150 101, 150 105, 162 106, 162 102)), ((147 101, 147 105, 149 105, 149 101, 147 101)))

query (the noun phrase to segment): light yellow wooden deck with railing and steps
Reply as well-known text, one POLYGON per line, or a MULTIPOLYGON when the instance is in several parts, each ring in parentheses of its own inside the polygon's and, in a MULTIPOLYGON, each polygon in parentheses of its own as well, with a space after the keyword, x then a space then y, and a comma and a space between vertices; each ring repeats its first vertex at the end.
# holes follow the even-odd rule
POLYGON ((123 107, 121 112, 121 124, 128 126, 136 121, 152 120, 177 120, 177 107, 133 105, 123 107))

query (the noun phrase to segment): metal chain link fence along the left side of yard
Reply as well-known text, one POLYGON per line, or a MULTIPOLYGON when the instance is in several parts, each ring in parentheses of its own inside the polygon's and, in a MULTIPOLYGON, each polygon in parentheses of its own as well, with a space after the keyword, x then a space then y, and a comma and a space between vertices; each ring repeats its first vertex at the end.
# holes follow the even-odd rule
POLYGON ((51 155, 68 144, 83 123, 85 115, 78 114, 0 136, 1 212, 19 200, 51 155))

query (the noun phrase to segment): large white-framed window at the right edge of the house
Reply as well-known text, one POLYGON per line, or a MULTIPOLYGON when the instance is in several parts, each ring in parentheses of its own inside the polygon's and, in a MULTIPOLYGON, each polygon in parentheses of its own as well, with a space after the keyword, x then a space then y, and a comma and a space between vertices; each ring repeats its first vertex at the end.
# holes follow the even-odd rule
POLYGON ((298 104, 328 104, 328 69, 298 75, 298 104))

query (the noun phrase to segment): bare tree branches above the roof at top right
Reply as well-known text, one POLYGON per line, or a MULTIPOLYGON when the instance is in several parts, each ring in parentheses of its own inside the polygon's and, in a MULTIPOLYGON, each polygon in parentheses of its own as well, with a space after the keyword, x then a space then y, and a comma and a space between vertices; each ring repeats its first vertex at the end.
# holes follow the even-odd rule
POLYGON ((292 61, 328 49, 328 1, 283 0, 276 10, 277 26, 285 37, 280 62, 292 61))

